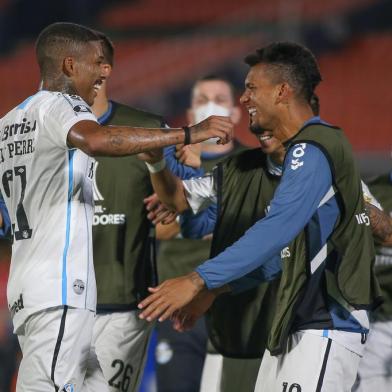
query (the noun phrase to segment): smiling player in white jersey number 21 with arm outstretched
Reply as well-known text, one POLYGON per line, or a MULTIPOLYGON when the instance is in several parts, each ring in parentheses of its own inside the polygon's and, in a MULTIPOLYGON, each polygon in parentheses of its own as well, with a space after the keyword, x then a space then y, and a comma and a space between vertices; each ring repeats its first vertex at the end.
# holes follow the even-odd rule
POLYGON ((231 137, 230 120, 185 129, 100 126, 89 105, 104 79, 90 29, 55 23, 38 37, 42 88, 0 120, 0 191, 12 224, 7 287, 23 359, 17 391, 78 391, 89 351, 93 160, 231 137))

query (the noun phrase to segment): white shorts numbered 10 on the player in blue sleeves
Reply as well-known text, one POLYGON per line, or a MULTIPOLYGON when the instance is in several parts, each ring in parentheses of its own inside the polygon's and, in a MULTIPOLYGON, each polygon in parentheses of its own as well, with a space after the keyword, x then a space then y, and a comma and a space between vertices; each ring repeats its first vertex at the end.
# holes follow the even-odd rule
POLYGON ((350 392, 359 361, 358 354, 327 337, 296 332, 284 354, 265 351, 255 392, 350 392))

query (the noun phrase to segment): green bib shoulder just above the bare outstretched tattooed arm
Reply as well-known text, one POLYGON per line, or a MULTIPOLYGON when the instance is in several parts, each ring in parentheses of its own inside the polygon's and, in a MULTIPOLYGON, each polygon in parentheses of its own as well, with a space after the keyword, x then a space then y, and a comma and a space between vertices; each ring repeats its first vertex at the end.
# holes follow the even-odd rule
POLYGON ((123 125, 161 127, 164 124, 164 119, 159 114, 147 112, 119 102, 111 102, 113 105, 112 119, 116 122, 122 122, 123 125))

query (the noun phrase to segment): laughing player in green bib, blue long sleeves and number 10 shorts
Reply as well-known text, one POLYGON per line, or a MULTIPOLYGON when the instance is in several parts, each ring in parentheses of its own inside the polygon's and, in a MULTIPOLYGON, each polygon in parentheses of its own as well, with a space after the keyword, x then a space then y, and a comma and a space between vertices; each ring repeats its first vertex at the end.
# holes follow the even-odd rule
MULTIPOLYGON (((246 62, 250 70, 241 101, 251 126, 266 138, 287 142, 271 207, 264 219, 195 272, 151 288, 139 305, 144 309, 140 317, 163 321, 199 293, 229 290, 227 284, 256 268, 264 280, 281 267, 255 390, 347 391, 364 351, 367 311, 380 300, 370 222, 351 146, 341 130, 314 119, 309 101, 321 75, 308 49, 272 43, 246 62), (277 253, 291 241, 296 249, 289 248, 289 261, 281 263, 277 253)), ((150 158, 154 162, 159 156, 150 158)), ((197 211, 216 191, 211 178, 204 187, 181 185, 167 171, 151 178, 162 201, 180 210, 191 206, 197 211)))

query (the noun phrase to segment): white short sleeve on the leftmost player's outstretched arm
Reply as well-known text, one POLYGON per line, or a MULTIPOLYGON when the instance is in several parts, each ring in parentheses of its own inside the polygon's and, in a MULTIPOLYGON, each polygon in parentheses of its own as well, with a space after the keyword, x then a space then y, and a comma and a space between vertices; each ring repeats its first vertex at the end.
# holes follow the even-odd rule
POLYGON ((57 93, 54 101, 45 110, 46 128, 49 130, 48 137, 56 146, 68 149, 67 137, 69 130, 80 121, 94 121, 97 118, 89 105, 77 95, 57 93))

